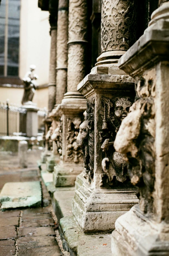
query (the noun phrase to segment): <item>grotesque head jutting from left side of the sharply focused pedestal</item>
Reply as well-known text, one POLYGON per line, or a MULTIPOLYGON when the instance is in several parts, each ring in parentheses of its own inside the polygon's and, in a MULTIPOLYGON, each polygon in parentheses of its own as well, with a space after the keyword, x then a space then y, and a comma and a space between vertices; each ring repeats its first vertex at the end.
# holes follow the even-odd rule
POLYGON ((88 143, 87 136, 88 136, 88 123, 89 121, 85 120, 80 124, 79 133, 77 137, 77 144, 80 148, 85 146, 85 143, 88 143))

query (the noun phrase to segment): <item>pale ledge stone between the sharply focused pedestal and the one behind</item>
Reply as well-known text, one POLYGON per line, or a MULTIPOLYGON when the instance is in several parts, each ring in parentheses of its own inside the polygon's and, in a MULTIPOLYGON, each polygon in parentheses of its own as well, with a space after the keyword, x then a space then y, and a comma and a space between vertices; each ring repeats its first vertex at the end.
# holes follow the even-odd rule
POLYGON ((54 192, 53 207, 58 221, 72 214, 72 199, 74 194, 74 190, 59 190, 59 188, 54 192))

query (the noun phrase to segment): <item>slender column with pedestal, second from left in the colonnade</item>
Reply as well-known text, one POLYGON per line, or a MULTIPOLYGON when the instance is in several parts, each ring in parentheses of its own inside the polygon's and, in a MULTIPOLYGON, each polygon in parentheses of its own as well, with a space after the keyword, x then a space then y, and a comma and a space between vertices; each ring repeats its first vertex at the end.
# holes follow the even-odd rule
POLYGON ((50 118, 53 120, 53 150, 52 155, 47 159, 46 167, 50 172, 54 171, 54 166, 60 160, 59 145, 57 140, 59 129, 59 113, 56 107, 61 103, 64 94, 67 90, 67 41, 68 41, 68 0, 59 0, 58 3, 58 18, 57 18, 57 56, 56 56, 56 93, 55 93, 55 107, 50 113, 50 118))

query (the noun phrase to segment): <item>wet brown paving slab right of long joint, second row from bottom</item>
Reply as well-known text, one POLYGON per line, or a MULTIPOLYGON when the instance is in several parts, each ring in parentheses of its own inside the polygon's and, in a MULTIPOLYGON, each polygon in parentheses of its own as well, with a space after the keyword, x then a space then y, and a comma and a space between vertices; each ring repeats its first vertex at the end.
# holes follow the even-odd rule
POLYGON ((54 236, 22 236, 17 240, 18 248, 34 248, 40 246, 54 246, 57 245, 56 238, 54 236))

